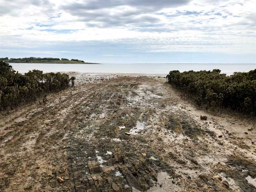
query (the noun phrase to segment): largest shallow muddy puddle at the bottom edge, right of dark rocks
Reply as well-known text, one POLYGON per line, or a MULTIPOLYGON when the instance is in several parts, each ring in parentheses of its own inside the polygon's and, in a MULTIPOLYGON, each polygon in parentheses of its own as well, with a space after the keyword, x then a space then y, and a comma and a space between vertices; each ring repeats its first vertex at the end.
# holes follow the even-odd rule
MULTIPOLYGON (((146 192, 168 192, 177 191, 177 186, 172 183, 172 179, 167 172, 160 172, 157 175, 157 183, 146 192), (160 187, 161 185, 161 187, 160 187)), ((141 192, 136 188, 132 187, 133 192, 141 192)))

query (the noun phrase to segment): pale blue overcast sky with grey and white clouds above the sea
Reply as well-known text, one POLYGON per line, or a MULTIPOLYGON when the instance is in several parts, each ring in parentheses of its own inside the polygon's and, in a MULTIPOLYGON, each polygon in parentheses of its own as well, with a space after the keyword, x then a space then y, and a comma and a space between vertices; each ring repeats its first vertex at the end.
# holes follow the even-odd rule
POLYGON ((1 0, 0 57, 256 63, 255 0, 1 0))

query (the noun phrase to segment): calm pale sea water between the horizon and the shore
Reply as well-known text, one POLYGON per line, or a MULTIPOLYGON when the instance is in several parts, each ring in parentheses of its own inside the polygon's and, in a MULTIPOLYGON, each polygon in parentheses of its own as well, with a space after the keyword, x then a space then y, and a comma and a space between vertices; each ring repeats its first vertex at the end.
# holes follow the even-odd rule
POLYGON ((38 69, 46 72, 76 71, 81 73, 145 73, 145 74, 167 74, 172 70, 200 71, 220 69, 228 75, 233 72, 248 72, 256 68, 256 64, 194 64, 194 63, 127 63, 101 65, 94 64, 59 64, 59 63, 10 63, 15 71, 26 73, 29 70, 38 69))

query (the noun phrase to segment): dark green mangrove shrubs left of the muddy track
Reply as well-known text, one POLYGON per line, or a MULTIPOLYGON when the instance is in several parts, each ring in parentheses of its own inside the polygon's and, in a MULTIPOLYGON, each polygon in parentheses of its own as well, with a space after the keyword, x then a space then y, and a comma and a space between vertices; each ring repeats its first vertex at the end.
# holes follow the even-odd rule
POLYGON ((46 94, 74 86, 75 79, 65 73, 43 73, 40 70, 22 75, 13 70, 9 63, 0 60, 0 111, 9 111, 40 98, 45 104, 46 94))

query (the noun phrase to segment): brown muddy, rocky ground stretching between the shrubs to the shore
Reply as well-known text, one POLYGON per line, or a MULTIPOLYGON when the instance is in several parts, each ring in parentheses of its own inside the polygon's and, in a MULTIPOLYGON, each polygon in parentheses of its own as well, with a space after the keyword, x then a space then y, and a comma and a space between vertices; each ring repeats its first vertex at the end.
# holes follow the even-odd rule
POLYGON ((256 191, 256 123, 163 78, 79 74, 41 103, 1 115, 0 191, 256 191))

